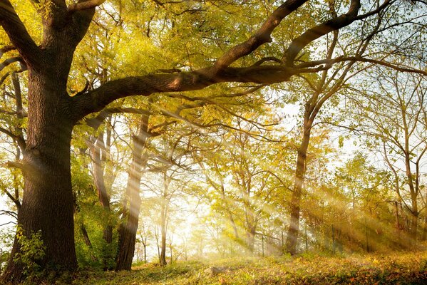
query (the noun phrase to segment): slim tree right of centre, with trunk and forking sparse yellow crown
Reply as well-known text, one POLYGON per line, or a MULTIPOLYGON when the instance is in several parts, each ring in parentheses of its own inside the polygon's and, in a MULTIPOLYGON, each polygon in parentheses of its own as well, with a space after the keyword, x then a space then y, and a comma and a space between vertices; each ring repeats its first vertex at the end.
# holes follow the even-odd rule
MULTIPOLYGON (((330 16, 335 17, 336 11, 334 9, 334 2, 329 2, 330 10, 327 13, 330 16)), ((393 7, 393 9, 396 9, 393 7)), ((388 11, 393 11, 389 9, 388 11)), ((310 136, 313 128, 319 123, 332 123, 335 124, 339 120, 338 116, 334 114, 321 114, 325 113, 325 105, 329 103, 329 110, 339 105, 339 97, 342 94, 348 92, 349 83, 354 81, 354 78, 359 73, 370 70, 373 63, 358 63, 356 58, 363 57, 366 53, 372 53, 372 47, 379 46, 378 36, 381 31, 386 31, 399 21, 404 19, 396 19, 392 23, 384 21, 384 14, 378 14, 376 19, 370 19, 371 23, 364 22, 364 28, 359 30, 354 27, 343 29, 343 31, 335 30, 332 35, 324 38, 324 46, 326 46, 326 58, 332 58, 334 53, 349 53, 353 51, 356 56, 354 61, 347 61, 343 63, 337 63, 328 70, 321 71, 317 74, 302 75, 303 82, 301 85, 293 84, 290 89, 293 91, 290 95, 300 93, 298 100, 301 102, 303 108, 302 114, 302 138, 298 147, 297 163, 295 166, 294 173, 294 187, 292 191, 292 198, 290 201, 290 219, 289 229, 287 232, 287 252, 290 254, 297 253, 297 244, 299 236, 299 220, 300 220, 300 204, 302 197, 302 190, 304 187, 304 175, 307 170, 307 149, 310 144, 310 136), (358 41, 354 41, 354 36, 349 38, 350 33, 359 33, 358 41), (319 119, 319 117, 321 117, 319 119)), ((411 31, 412 32, 412 31, 411 31)), ((408 33, 408 34, 411 34, 408 33)), ((416 31, 415 31, 416 33, 416 31)), ((384 48, 384 56, 390 56, 393 53, 400 53, 403 50, 403 46, 399 46, 395 51, 390 52, 384 48)), ((422 57, 416 58, 416 61, 422 61, 422 57)), ((344 110, 345 113, 345 110, 344 110)), ((343 115, 344 117, 345 115, 343 115)))

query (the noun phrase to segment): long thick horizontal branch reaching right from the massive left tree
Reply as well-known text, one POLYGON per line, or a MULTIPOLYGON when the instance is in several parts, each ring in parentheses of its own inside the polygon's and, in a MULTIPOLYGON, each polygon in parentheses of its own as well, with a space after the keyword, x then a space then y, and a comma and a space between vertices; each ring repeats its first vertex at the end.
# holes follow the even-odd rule
MULTIPOLYGON (((152 93, 200 90, 220 82, 272 84, 289 80, 289 77, 308 70, 284 66, 252 66, 248 68, 225 68, 213 75, 214 68, 202 68, 192 72, 153 74, 110 81, 85 95, 73 97, 76 120, 102 110, 118 98, 130 95, 148 96, 152 93)), ((312 72, 315 72, 314 70, 312 72)))

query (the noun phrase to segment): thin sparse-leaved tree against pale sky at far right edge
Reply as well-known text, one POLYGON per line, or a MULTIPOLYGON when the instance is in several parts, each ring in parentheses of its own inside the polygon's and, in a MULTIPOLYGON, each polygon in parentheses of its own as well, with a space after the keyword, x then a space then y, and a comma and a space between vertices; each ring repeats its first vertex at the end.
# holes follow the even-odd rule
MULTIPOLYGON (((396 202, 410 214, 408 230, 416 242, 427 152, 425 78, 382 68, 373 74, 376 79, 366 89, 354 90, 354 128, 363 130, 367 145, 384 157, 396 202)), ((400 227, 398 216, 396 224, 400 227)))

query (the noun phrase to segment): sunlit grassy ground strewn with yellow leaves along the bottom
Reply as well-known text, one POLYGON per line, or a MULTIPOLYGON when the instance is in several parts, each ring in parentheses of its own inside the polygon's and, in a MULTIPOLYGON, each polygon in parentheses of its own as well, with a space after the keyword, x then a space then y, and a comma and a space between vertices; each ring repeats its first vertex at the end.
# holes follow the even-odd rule
POLYGON ((130 272, 86 271, 74 284, 427 284, 427 252, 143 264, 130 272))

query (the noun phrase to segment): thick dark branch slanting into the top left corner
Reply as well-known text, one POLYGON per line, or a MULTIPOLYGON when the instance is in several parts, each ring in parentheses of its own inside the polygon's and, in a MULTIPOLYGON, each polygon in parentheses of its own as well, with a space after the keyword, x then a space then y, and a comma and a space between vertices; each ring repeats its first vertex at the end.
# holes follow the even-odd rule
POLYGON ((0 24, 24 61, 36 63, 40 58, 38 46, 34 43, 9 0, 0 0, 0 24))

